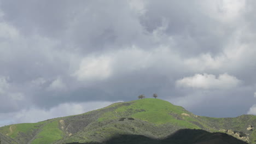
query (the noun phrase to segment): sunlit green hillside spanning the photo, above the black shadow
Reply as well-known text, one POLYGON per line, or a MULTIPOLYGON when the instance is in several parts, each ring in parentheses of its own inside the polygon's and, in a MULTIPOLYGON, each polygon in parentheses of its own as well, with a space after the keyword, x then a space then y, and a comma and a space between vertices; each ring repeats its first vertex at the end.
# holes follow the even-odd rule
MULTIPOLYGON (((161 139, 164 143, 170 140, 171 134, 189 128, 223 132, 243 141, 256 143, 254 125, 256 125, 256 116, 253 115, 236 118, 196 116, 181 106, 152 98, 115 103, 81 115, 54 118, 39 123, 8 125, 0 128, 0 138, 2 141, 5 140, 2 144, 102 143, 106 140, 119 141, 120 136, 150 140, 152 143, 161 139), (252 127, 248 128, 248 125, 252 127)), ((194 131, 195 134, 201 133, 200 130, 194 131)), ((229 139, 227 135, 206 131, 199 134, 201 138, 195 135, 196 137, 191 137, 191 140, 206 139, 204 137, 213 139, 214 135, 229 139)), ((176 136, 177 134, 181 134, 181 131, 176 133, 176 136)))

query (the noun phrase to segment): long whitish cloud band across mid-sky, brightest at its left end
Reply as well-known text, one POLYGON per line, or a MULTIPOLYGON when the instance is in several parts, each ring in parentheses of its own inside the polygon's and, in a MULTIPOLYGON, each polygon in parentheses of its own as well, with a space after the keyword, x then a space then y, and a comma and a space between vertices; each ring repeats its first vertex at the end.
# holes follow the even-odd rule
POLYGON ((150 67, 161 68, 159 73, 168 73, 170 65, 172 68, 182 67, 183 62, 168 46, 143 50, 133 45, 105 55, 83 58, 73 76, 80 81, 104 80, 113 75, 132 73, 150 67))

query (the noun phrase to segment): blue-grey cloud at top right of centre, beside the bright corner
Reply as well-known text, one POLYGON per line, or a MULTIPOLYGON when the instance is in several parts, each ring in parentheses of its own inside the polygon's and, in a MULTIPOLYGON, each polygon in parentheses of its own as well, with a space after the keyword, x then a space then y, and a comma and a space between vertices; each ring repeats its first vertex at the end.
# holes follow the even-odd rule
POLYGON ((202 52, 216 55, 223 50, 234 31, 234 28, 205 14, 200 2, 150 1, 146 8, 142 23, 147 30, 153 32, 163 21, 166 22, 164 33, 174 40, 176 50, 185 57, 202 52))

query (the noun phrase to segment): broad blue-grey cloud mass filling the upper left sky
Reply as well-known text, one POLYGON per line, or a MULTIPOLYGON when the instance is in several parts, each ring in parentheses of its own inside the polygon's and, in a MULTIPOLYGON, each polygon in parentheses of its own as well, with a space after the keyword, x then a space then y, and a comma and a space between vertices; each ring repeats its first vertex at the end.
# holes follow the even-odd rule
POLYGON ((22 33, 60 40, 62 49, 95 52, 146 44, 139 14, 126 1, 3 1, 1 5, 4 19, 22 33))

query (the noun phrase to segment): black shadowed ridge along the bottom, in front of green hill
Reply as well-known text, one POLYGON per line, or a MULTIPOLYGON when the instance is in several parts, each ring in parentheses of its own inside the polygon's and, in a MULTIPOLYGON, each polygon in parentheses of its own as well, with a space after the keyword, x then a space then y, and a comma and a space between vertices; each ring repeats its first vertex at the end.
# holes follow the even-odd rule
MULTIPOLYGON (((246 144, 246 142, 236 139, 224 133, 210 133, 198 129, 181 129, 168 136, 166 139, 150 139, 143 135, 119 135, 112 137, 102 143, 83 144, 246 144)), ((79 144, 79 143, 68 143, 79 144)))

